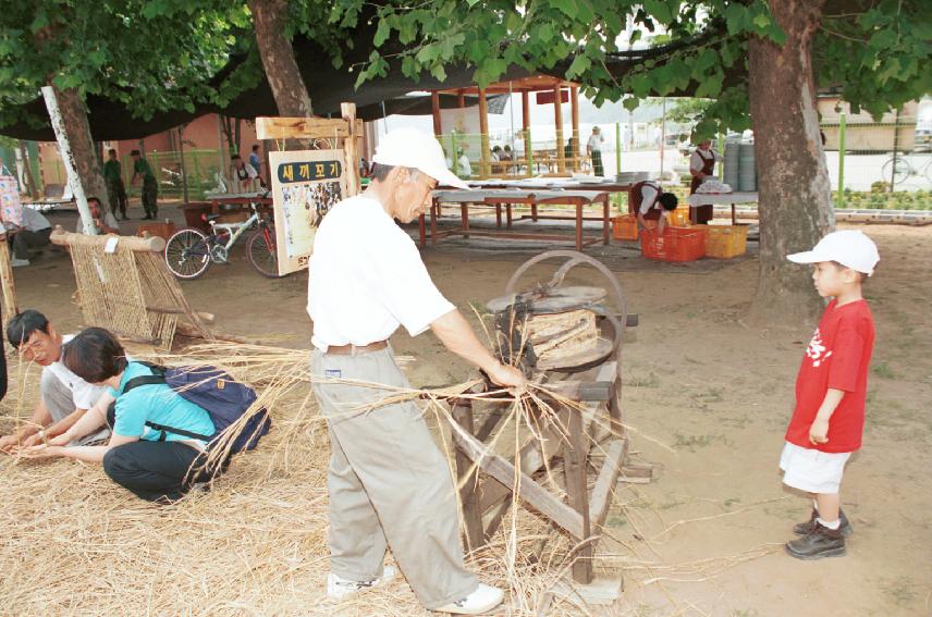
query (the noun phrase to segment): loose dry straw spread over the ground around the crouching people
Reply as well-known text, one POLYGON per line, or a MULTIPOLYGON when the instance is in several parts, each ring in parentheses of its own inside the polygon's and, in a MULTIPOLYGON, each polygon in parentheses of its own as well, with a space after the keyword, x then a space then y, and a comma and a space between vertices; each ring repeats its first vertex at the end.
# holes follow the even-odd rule
MULTIPOLYGON (((402 577, 343 603, 326 597, 329 442, 310 395, 307 353, 210 344, 154 359, 191 365, 198 358, 254 384, 273 431, 256 452, 237 456, 210 491, 172 506, 137 499, 98 465, 2 455, 0 614, 427 615, 402 577)), ((32 412, 38 375, 38 367, 11 358, 11 388, 0 404, 3 433, 32 412)), ((431 402, 425 407, 432 421, 444 414, 431 402)), ((520 409, 513 417, 519 419, 520 409)), ((438 434, 450 453, 449 429, 438 434)), ((490 545, 468 556, 483 582, 510 589, 501 614, 627 613, 588 607, 560 585, 572 566, 566 538, 526 509, 507 516, 490 545)), ((714 576, 770 548, 678 566, 638 551, 604 542, 599 567, 615 576, 624 567, 635 580, 662 584, 667 577, 714 576)), ((630 590, 635 581, 627 583, 630 590)))

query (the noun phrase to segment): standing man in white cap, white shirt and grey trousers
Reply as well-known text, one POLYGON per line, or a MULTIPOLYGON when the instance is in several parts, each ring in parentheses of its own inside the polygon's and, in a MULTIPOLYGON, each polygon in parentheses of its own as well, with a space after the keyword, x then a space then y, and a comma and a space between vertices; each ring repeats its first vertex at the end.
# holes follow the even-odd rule
POLYGON ((463 565, 454 484, 414 403, 364 409, 389 393, 335 380, 408 387, 388 338, 404 325, 443 345, 508 387, 524 375, 502 365, 437 289, 408 223, 438 184, 467 188, 432 136, 400 128, 382 137, 365 193, 328 212, 317 232, 307 310, 314 320, 314 393, 330 429, 330 567, 327 593, 340 599, 394 575, 387 546, 418 600, 431 610, 480 615, 500 589, 463 565))

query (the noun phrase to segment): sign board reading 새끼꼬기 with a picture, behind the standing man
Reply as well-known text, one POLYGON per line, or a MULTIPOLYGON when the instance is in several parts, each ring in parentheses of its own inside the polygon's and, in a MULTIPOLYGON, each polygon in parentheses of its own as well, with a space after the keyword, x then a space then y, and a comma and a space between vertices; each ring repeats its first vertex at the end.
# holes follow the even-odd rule
POLYGON ((324 214, 348 195, 343 150, 269 152, 279 274, 307 268, 324 214))

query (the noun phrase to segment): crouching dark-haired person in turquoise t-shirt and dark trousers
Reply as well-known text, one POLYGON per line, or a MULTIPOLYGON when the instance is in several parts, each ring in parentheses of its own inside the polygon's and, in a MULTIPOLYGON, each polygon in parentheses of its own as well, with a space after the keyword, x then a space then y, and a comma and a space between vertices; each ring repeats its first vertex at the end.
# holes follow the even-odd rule
POLYGON ((205 468, 205 440, 159 430, 171 427, 209 439, 214 433, 210 416, 164 383, 127 388, 134 378, 154 373, 149 367, 128 360, 113 334, 101 328, 88 328, 64 345, 62 360, 88 383, 109 386, 109 395, 101 396, 68 432, 32 448, 27 456, 102 462, 103 471, 114 482, 150 502, 180 499, 195 483, 210 479, 211 470, 205 468), (115 405, 111 406, 114 399, 115 405), (112 423, 107 445, 66 445, 105 423, 112 423))

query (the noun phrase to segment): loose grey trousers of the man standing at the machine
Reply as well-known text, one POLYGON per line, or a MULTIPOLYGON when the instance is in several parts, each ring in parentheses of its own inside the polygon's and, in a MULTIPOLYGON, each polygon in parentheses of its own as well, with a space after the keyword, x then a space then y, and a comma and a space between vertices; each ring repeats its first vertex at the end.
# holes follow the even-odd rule
POLYGON ((314 394, 330 429, 330 568, 348 580, 382 573, 385 546, 428 609, 462 600, 479 582, 463 565, 450 466, 414 403, 368 412, 384 390, 317 381, 335 377, 409 387, 391 347, 336 356, 315 349, 314 394))

